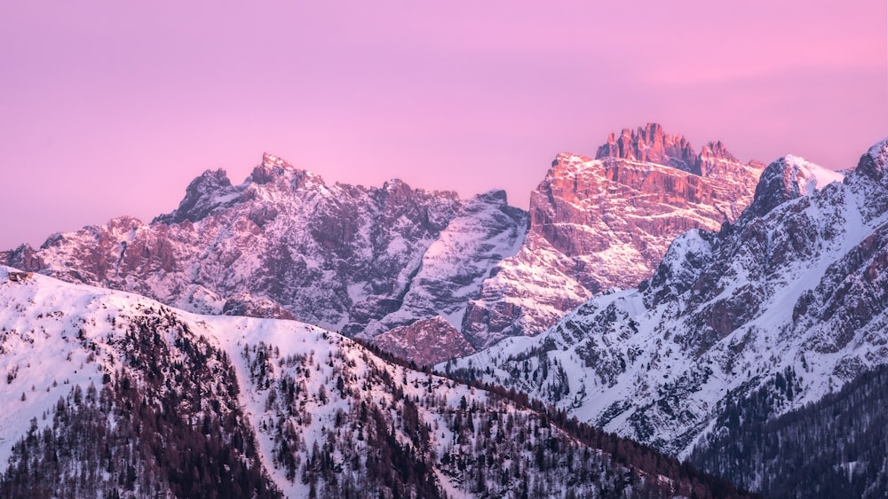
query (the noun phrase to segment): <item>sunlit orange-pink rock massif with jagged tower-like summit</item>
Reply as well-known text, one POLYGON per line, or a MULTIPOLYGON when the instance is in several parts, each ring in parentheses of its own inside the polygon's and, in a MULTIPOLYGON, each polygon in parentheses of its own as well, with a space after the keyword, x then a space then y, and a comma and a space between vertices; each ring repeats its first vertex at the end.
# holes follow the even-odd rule
POLYGON ((611 134, 596 160, 559 154, 531 194, 525 245, 469 304, 464 334, 475 347, 537 334, 594 294, 638 285, 679 234, 737 220, 763 168, 720 142, 696 154, 657 124, 611 134))

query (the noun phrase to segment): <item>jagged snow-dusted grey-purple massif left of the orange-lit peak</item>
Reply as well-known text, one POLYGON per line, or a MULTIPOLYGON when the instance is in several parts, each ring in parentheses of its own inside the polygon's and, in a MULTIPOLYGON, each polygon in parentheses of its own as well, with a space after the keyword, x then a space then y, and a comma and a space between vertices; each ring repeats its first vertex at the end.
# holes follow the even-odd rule
POLYGON ((527 214, 503 191, 336 183, 269 154, 240 185, 194 180, 178 209, 56 234, 0 261, 71 282, 138 292, 194 312, 297 318, 373 337, 416 318, 455 324, 527 214))

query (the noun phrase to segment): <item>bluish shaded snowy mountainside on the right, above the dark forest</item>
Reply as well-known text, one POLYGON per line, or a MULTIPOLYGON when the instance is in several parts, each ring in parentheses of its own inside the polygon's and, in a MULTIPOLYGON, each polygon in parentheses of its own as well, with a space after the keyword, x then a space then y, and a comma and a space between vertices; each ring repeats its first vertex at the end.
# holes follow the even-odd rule
POLYGON ((767 394, 760 418, 819 400, 888 363, 886 163, 888 141, 844 181, 774 161, 737 222, 676 239, 638 289, 440 369, 678 456, 754 393, 767 394))

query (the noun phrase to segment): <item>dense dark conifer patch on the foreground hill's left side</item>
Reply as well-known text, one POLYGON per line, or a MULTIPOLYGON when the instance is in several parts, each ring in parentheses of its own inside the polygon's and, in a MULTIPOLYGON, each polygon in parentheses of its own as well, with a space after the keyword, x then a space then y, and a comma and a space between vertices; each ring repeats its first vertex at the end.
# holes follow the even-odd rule
MULTIPOLYGON (((106 372, 100 389, 73 386, 32 420, 0 477, 0 496, 279 495, 244 424, 226 353, 169 308, 109 320, 126 327, 107 338, 122 353, 121 369, 106 372)), ((94 340, 78 339, 99 352, 94 340)))

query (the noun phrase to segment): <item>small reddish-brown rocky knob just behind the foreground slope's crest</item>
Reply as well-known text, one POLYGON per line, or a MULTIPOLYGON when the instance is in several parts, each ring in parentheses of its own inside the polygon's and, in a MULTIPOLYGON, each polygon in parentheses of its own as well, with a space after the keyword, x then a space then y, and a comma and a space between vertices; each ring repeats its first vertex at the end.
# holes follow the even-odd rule
POLYGON ((386 352, 409 359, 419 366, 442 363, 475 353, 472 344, 441 316, 398 326, 380 334, 373 342, 386 352))

